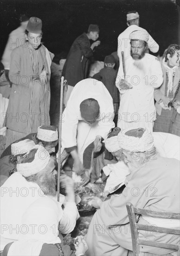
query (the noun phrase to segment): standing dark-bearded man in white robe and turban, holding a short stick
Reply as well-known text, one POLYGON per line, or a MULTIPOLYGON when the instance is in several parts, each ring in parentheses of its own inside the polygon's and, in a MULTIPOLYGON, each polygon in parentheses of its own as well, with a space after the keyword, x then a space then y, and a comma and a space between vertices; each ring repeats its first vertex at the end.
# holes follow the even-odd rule
POLYGON ((129 35, 131 56, 125 60, 125 73, 120 63, 116 87, 120 91, 120 107, 117 126, 127 128, 150 128, 156 118, 154 88, 162 84, 162 70, 159 60, 146 53, 149 34, 136 30, 129 35), (124 77, 126 75, 126 77, 124 77), (127 89, 124 89, 124 85, 127 89))

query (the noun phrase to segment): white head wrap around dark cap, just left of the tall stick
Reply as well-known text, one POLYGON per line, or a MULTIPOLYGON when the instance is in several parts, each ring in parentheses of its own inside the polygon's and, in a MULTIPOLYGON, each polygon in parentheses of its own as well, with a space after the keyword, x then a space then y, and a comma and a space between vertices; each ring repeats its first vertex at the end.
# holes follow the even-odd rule
POLYGON ((42 125, 38 127, 37 138, 41 141, 57 141, 58 129, 51 125, 42 125))

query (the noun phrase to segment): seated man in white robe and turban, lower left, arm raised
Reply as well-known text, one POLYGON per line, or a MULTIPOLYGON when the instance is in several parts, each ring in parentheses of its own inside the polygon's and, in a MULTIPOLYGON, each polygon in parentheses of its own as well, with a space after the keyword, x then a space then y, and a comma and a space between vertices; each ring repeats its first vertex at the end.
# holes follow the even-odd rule
POLYGON ((66 191, 62 210, 62 203, 56 201, 54 159, 44 147, 36 145, 28 155, 21 157, 17 170, 0 187, 0 250, 7 243, 19 241, 11 245, 15 254, 10 255, 39 255, 43 244, 49 244, 51 249, 52 244, 61 243, 58 232, 70 233, 76 225, 79 214, 74 182, 70 177, 61 177, 61 186, 66 191), (34 254, 31 254, 32 249, 34 254))

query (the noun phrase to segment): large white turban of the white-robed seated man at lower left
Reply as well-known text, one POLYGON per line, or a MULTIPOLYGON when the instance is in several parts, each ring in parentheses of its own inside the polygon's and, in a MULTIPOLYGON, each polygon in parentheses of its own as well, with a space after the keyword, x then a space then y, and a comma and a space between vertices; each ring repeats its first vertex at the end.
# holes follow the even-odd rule
POLYGON ((23 156, 24 160, 22 160, 22 163, 18 162, 17 164, 17 171, 25 177, 40 172, 50 161, 48 151, 41 145, 36 145, 29 154, 25 156, 23 156))

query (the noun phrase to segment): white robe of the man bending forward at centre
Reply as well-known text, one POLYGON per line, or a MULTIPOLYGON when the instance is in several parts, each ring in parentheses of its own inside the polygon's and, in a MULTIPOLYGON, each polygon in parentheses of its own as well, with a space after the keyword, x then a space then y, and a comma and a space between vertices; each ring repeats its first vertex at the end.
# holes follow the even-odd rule
POLYGON ((78 82, 62 115, 62 148, 77 146, 80 160, 83 161, 84 149, 96 136, 105 138, 111 128, 115 127, 113 119, 113 100, 103 83, 91 78, 78 82), (100 106, 95 126, 88 125, 81 117, 80 103, 88 98, 95 99, 100 106))

